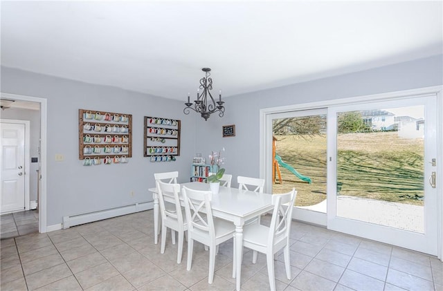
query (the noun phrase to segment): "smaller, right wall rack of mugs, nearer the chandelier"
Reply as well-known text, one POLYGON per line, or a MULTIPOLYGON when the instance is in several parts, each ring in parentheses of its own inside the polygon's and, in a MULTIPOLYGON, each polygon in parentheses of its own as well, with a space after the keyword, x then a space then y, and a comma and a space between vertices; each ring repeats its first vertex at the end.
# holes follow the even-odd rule
POLYGON ((143 156, 151 162, 170 162, 180 156, 181 121, 145 116, 143 156))

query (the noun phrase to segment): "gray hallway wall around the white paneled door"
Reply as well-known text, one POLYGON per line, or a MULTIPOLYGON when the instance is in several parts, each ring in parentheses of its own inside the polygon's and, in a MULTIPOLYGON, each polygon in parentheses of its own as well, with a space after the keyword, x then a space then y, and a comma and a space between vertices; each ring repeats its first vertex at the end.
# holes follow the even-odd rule
MULTIPOLYGON (((3 119, 12 120, 29 120, 30 126, 30 158, 38 158, 40 147, 40 111, 20 108, 5 109, 0 112, 0 117, 3 119)), ((29 161, 30 162, 30 161, 29 161)), ((30 200, 37 200, 37 169, 39 169, 39 162, 31 162, 29 174, 29 198, 30 200)))

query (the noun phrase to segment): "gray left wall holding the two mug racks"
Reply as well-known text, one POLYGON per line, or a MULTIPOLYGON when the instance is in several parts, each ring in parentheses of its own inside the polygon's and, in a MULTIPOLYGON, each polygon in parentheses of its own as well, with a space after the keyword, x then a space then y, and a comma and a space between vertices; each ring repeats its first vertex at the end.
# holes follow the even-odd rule
POLYGON ((190 176, 195 152, 195 116, 183 115, 183 102, 119 88, 1 68, 1 91, 48 100, 47 225, 62 216, 152 201, 154 173, 178 170, 180 182, 190 176), (84 167, 78 159, 78 109, 132 114, 132 158, 128 164, 84 167), (181 156, 175 162, 143 157, 143 117, 181 120, 181 156), (64 156, 56 162, 55 154, 64 156), (134 191, 134 197, 130 196, 134 191))

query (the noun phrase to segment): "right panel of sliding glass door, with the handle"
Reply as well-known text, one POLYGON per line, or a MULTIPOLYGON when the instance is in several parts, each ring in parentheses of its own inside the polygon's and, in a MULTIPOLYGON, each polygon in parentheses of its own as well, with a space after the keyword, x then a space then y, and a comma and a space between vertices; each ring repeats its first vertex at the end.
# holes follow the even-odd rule
POLYGON ((329 108, 328 229, 437 255, 436 100, 329 108))

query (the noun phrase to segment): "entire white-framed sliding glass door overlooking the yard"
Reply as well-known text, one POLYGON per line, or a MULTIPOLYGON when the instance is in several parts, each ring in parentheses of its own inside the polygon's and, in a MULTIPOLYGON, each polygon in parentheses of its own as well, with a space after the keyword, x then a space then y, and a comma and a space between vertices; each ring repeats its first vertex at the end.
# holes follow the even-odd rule
POLYGON ((298 220, 437 255, 437 94, 415 96, 269 109, 266 191, 295 187, 298 220))

